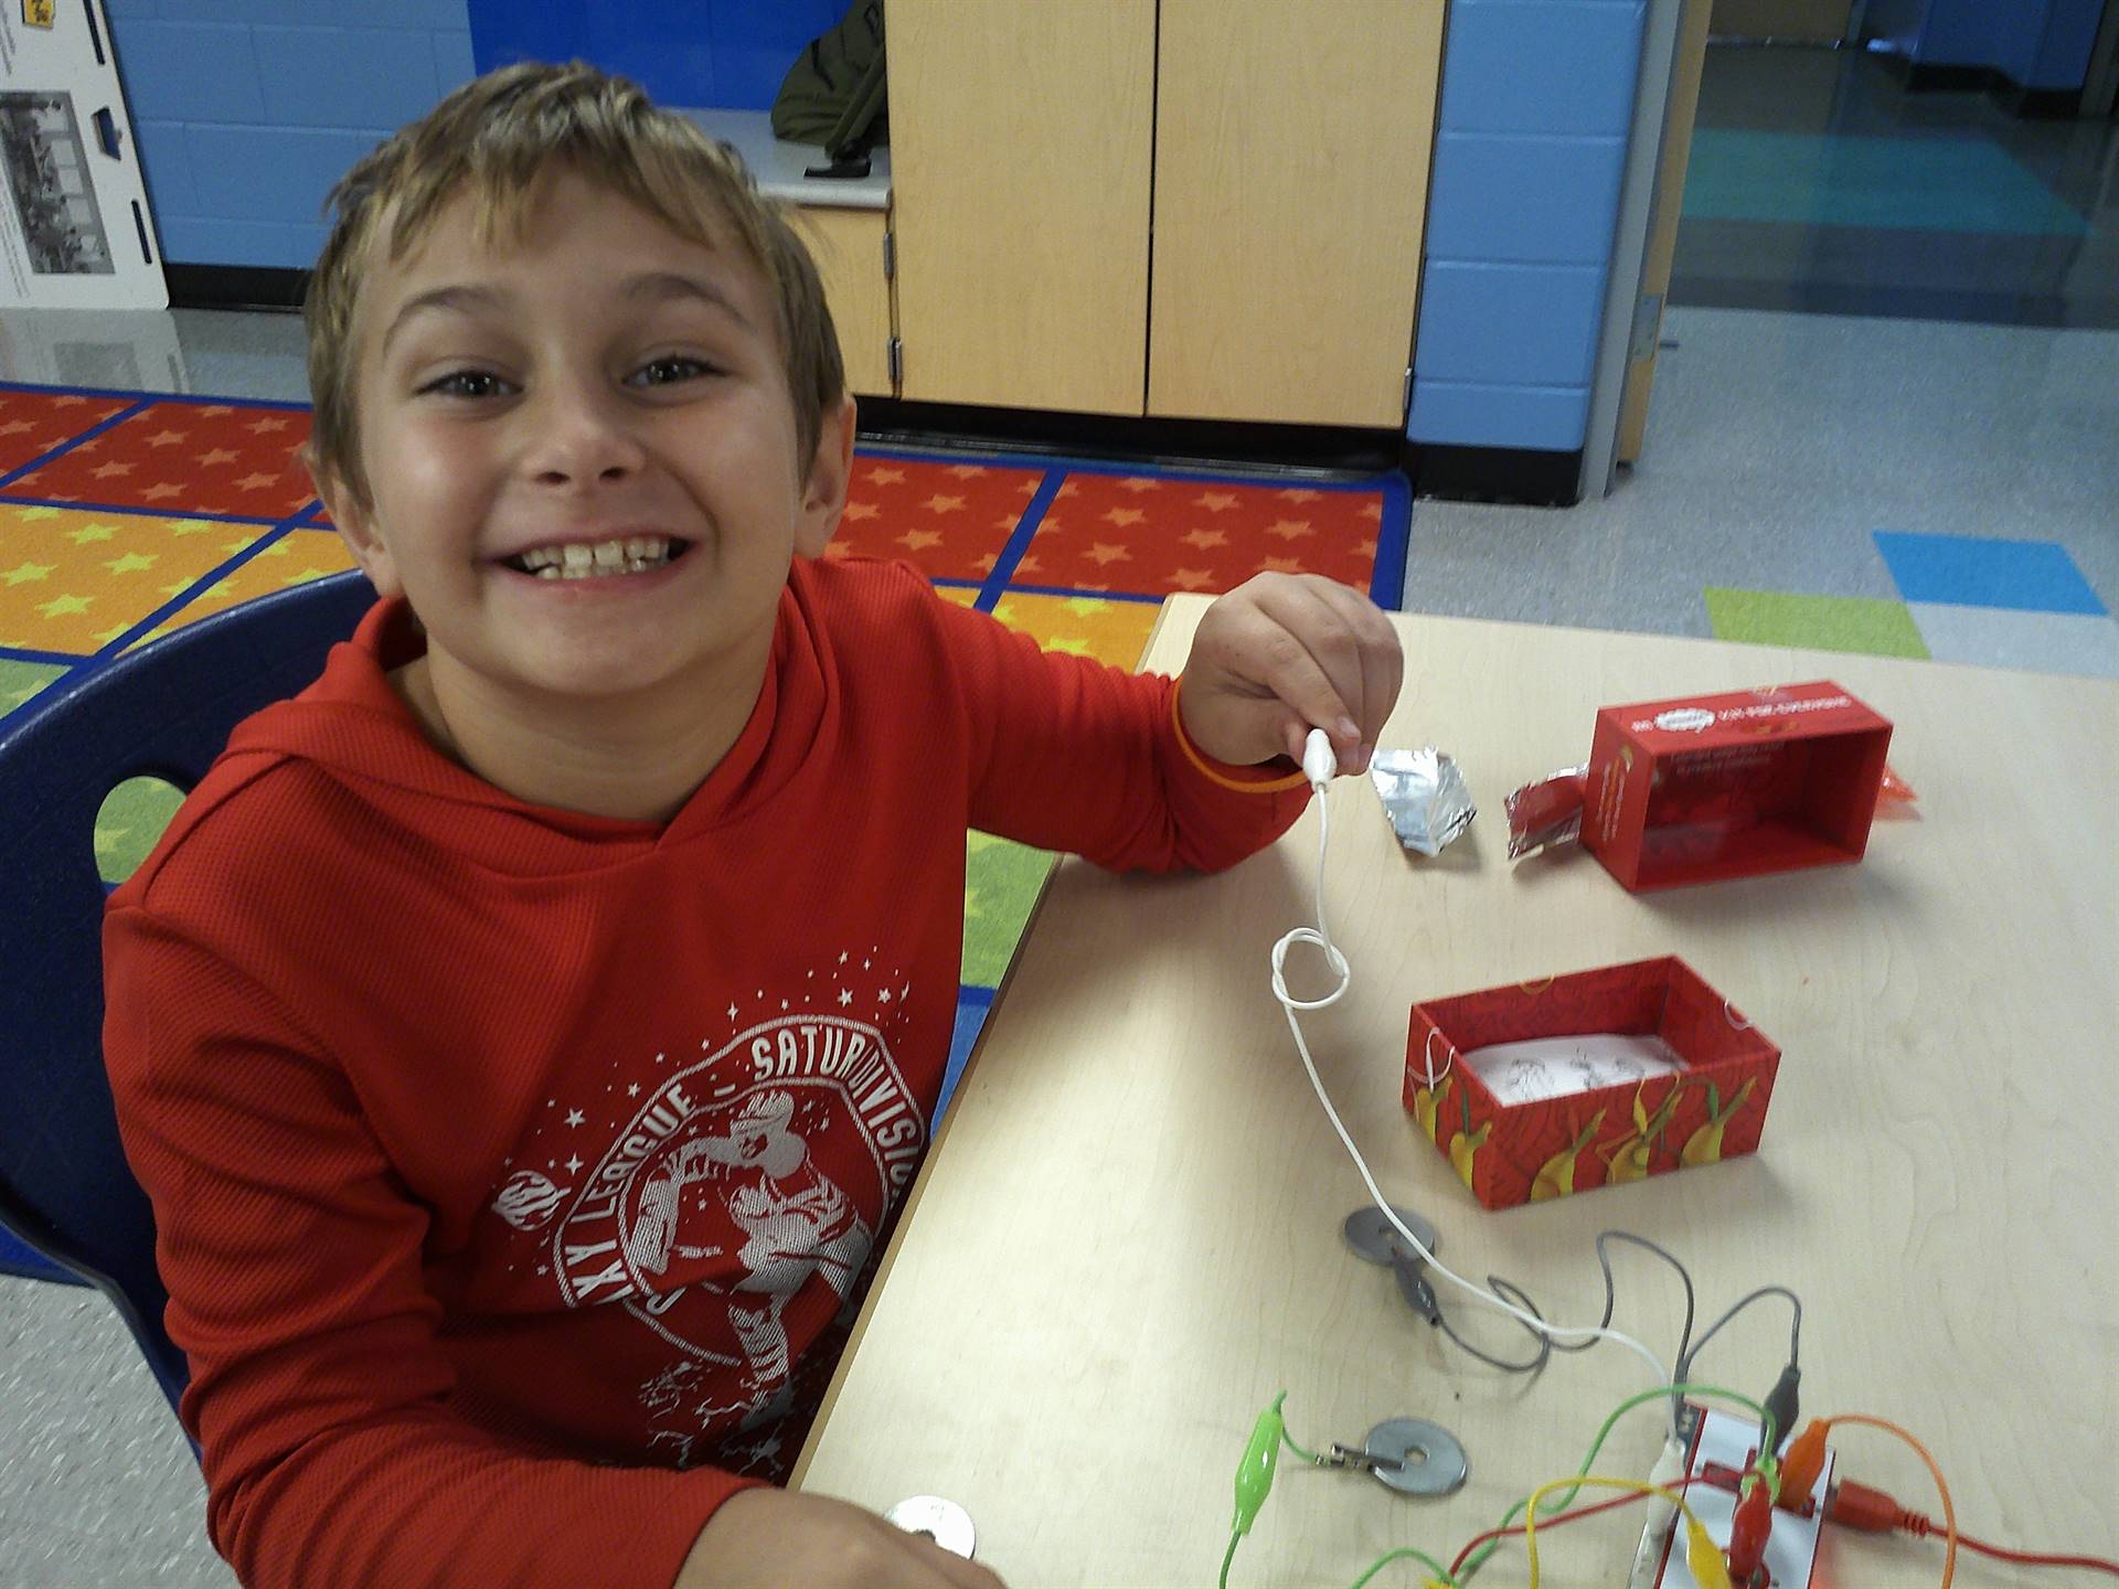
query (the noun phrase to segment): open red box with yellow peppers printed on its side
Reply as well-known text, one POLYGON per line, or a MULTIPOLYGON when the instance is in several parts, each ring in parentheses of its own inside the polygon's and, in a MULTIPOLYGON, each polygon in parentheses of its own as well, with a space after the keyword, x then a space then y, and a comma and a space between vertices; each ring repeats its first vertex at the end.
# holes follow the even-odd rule
POLYGON ((1405 1108, 1481 1203, 1513 1208, 1757 1150, 1778 1070, 1780 1049, 1666 956, 1413 1004, 1405 1108), (1494 1042, 1593 1032, 1653 1034, 1682 1068, 1507 1104, 1464 1061, 1494 1042))

